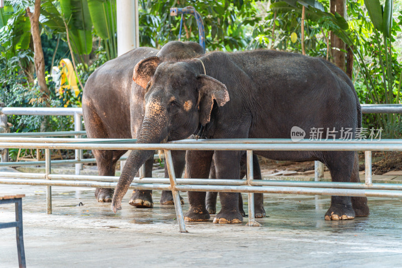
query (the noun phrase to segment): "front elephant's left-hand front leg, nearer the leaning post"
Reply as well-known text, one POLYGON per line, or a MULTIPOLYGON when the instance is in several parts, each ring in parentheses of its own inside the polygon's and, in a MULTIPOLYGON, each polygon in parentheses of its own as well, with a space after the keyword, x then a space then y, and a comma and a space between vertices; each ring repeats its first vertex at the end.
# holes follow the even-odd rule
MULTIPOLYGON (((187 151, 186 178, 208 178, 214 151, 187 151)), ((188 192, 188 211, 184 221, 208 221, 210 214, 205 206, 206 192, 188 192)))

